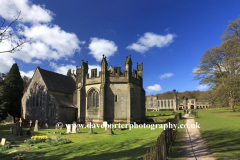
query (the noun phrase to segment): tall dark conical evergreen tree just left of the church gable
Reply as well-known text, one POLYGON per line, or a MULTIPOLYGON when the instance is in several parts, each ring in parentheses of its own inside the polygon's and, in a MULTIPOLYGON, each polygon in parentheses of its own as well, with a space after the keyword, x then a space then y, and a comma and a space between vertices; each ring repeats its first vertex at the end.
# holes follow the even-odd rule
POLYGON ((9 88, 10 95, 8 113, 13 116, 15 122, 15 117, 21 117, 21 99, 24 89, 17 63, 13 64, 4 83, 9 88))

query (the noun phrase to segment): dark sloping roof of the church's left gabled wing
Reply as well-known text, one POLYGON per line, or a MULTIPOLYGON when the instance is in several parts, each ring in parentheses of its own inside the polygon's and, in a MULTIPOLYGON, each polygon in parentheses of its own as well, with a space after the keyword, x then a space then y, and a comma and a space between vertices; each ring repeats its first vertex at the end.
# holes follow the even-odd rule
POLYGON ((42 78, 50 91, 73 94, 76 89, 76 82, 72 77, 51 72, 38 67, 42 78))

